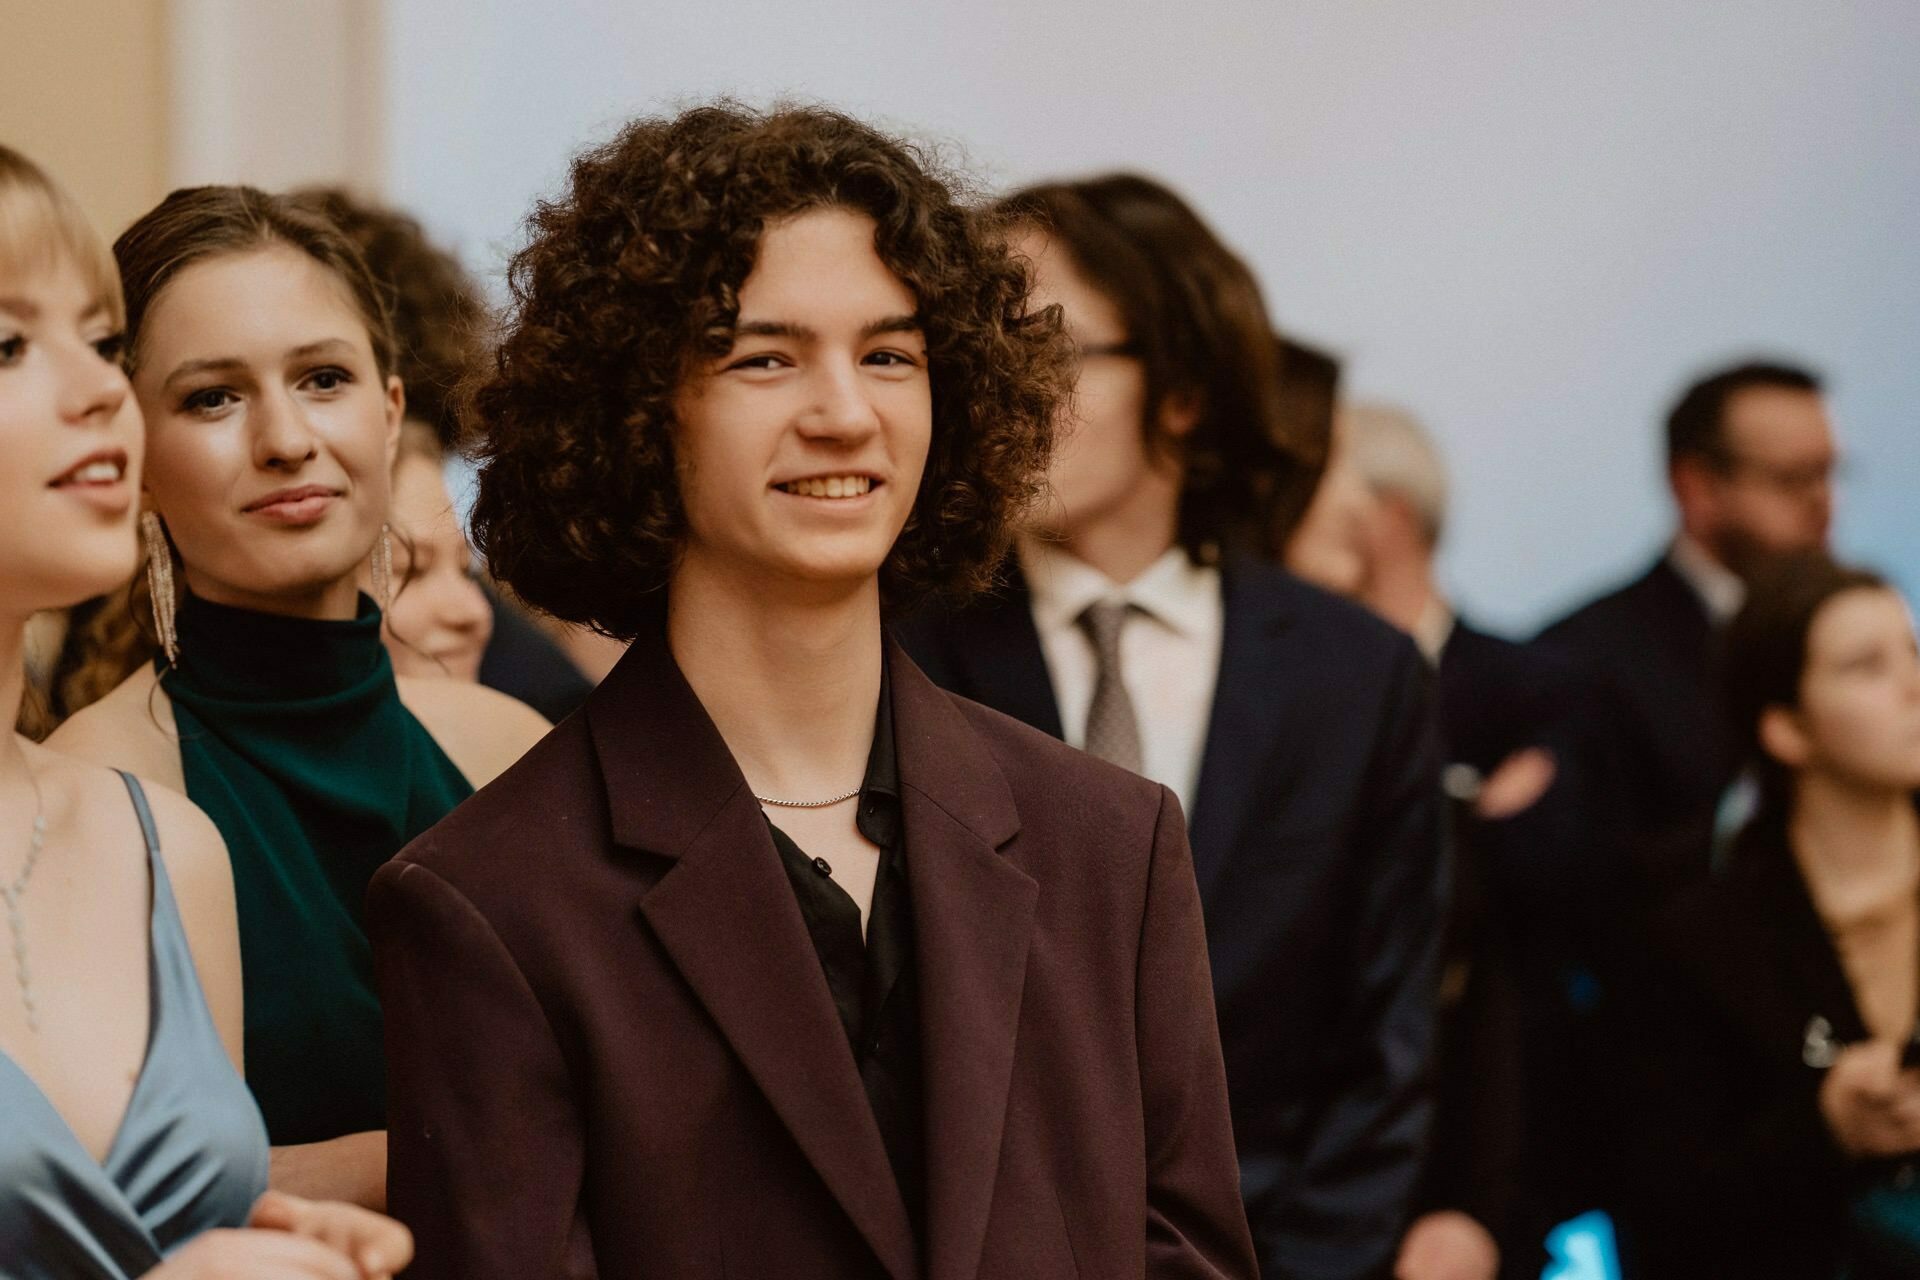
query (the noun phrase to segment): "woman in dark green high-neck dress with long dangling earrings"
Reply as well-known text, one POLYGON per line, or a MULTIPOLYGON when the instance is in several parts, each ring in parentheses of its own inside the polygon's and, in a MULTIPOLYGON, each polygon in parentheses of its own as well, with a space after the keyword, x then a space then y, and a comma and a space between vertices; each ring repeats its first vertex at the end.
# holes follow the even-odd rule
POLYGON ((394 677, 359 583, 372 564, 386 591, 405 391, 351 244, 280 198, 204 186, 134 223, 115 255, 163 654, 54 741, 213 818, 273 1184, 380 1207, 367 883, 547 725, 480 685, 394 677))

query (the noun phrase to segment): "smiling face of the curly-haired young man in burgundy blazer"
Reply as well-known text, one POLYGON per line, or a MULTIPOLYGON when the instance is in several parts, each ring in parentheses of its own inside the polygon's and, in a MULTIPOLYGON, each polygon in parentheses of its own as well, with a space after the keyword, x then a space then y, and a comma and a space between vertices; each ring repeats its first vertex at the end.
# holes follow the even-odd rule
POLYGON ((816 209, 760 236, 726 355, 674 399, 685 574, 745 591, 877 583, 933 436, 912 290, 874 221, 816 209))

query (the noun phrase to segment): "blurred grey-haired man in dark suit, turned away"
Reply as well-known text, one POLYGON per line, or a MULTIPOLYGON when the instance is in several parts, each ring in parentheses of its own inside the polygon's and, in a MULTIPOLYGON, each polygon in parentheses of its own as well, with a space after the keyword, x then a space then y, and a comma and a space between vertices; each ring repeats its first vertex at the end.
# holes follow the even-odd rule
POLYGON ((1436 578, 1446 466, 1392 405, 1350 403, 1288 545, 1302 576, 1367 604, 1436 674, 1453 818, 1434 1140, 1398 1280, 1534 1280, 1565 1192, 1569 1029, 1584 971, 1567 923, 1590 889, 1569 850, 1586 821, 1567 768, 1582 689, 1571 666, 1463 620, 1436 578))

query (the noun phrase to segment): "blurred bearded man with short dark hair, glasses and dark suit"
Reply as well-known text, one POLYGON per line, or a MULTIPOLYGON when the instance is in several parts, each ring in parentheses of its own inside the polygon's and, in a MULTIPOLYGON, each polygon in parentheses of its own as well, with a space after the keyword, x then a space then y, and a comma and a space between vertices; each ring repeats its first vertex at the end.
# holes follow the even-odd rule
POLYGON ((1619 1092, 1617 1063, 1638 1052, 1620 994, 1642 963, 1644 921, 1707 879, 1716 837, 1741 818, 1716 637, 1757 568, 1826 543, 1836 464, 1814 374, 1747 363, 1695 382, 1667 418, 1680 524, 1667 551, 1536 641, 1576 662, 1592 693, 1571 725, 1586 821, 1569 856, 1588 890, 1567 921, 1588 986, 1588 1017, 1569 1044, 1582 1073, 1572 1088, 1584 1100, 1576 1150, 1592 1171, 1590 1205, 1617 1207, 1636 1192, 1613 1117, 1634 1105, 1619 1092))

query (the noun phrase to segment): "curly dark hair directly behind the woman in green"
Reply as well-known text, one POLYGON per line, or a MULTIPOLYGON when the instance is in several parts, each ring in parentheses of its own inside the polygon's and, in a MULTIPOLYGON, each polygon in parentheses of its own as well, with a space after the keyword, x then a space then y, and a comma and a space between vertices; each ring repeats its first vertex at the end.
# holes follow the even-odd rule
POLYGON ((407 416, 457 451, 455 391, 484 351, 488 307, 459 259, 428 240, 420 223, 338 186, 290 198, 344 230, 386 292, 394 319, 394 372, 407 384, 407 416))

